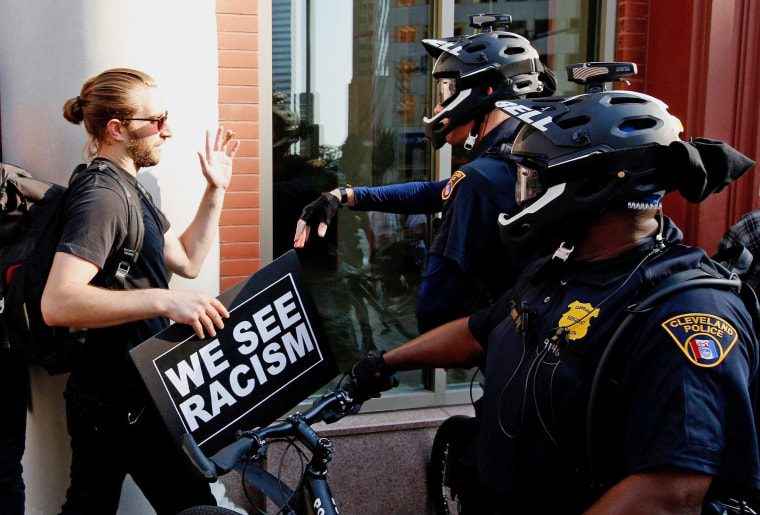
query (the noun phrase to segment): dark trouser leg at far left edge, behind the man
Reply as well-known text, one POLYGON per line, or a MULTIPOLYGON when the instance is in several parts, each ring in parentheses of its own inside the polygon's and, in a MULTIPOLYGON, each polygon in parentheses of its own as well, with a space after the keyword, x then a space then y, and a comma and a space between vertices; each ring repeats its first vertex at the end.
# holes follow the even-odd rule
POLYGON ((0 349, 0 514, 24 513, 21 457, 26 437, 29 369, 9 349, 0 349))

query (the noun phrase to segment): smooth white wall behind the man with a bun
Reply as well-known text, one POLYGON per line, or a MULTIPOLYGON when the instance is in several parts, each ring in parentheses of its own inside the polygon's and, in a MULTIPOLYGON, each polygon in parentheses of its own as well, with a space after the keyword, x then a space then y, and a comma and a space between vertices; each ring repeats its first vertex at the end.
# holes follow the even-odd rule
MULTIPOLYGON (((3 161, 65 184, 82 160, 86 134, 83 125, 64 120, 63 103, 105 69, 143 70, 163 92, 174 137, 161 164, 138 177, 175 229, 184 230, 205 184, 196 152, 218 119, 215 1, 0 0, 0 13, 3 161)), ((218 293, 218 246, 199 279, 175 278, 172 287, 218 293)), ((68 486, 65 377, 33 372, 27 513, 48 515, 57 513, 68 486)), ((125 491, 120 513, 151 512, 135 489, 125 491)))

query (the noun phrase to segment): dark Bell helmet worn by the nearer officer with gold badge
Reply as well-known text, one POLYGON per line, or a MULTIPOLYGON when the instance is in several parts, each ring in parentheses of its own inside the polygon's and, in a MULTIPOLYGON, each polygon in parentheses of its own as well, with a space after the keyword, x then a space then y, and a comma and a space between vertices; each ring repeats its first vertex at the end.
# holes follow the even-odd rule
POLYGON ((517 254, 549 235, 574 244, 610 207, 657 207, 677 189, 667 172, 683 127, 654 97, 608 91, 497 106, 525 122, 512 148, 524 209, 499 217, 502 242, 517 254))

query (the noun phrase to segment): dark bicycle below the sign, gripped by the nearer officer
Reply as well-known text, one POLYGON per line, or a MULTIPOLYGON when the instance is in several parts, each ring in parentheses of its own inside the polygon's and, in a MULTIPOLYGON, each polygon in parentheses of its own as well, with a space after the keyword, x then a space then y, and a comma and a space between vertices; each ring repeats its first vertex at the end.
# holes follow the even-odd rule
MULTIPOLYGON (((329 438, 319 436, 312 424, 324 421, 336 422, 346 415, 359 411, 357 404, 343 389, 328 390, 316 399, 304 413, 296 412, 284 421, 260 429, 237 432, 237 441, 211 457, 206 457, 191 435, 185 435, 182 449, 201 475, 209 482, 235 469, 241 472, 278 508, 278 514, 338 515, 338 507, 327 483, 327 464, 332 459, 335 446, 329 438), (255 466, 248 466, 266 457, 269 441, 287 441, 302 457, 306 457, 298 444, 303 445, 311 458, 303 467, 301 480, 295 489, 286 485, 278 476, 255 466), (242 467, 241 467, 242 464, 242 467)), ((284 454, 283 454, 284 459, 284 454)), ((248 492, 244 492, 248 497, 248 492)), ((250 500, 250 497, 248 497, 250 500)), ((251 504, 255 504, 251 502, 251 504)), ((258 509, 258 508, 257 508, 258 509)), ((258 509, 259 513, 265 513, 258 509)), ((218 506, 197 506, 183 510, 178 515, 238 515, 237 512, 218 506)))

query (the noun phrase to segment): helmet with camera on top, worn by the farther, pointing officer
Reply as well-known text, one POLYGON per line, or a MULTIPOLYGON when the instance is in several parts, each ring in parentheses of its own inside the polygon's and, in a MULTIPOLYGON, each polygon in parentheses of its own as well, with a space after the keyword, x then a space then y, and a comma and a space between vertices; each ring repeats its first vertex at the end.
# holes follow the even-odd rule
MULTIPOLYGON (((505 28, 508 22, 504 19, 511 17, 470 16, 470 25, 483 32, 422 40, 425 50, 436 59, 436 101, 443 107, 422 120, 425 136, 436 149, 446 143, 446 135, 452 130, 491 112, 497 100, 549 96, 556 90, 554 74, 541 63, 538 51, 527 39, 493 30, 505 28), (493 88, 490 93, 489 87, 493 88)), ((479 125, 476 123, 475 130, 479 125)))

